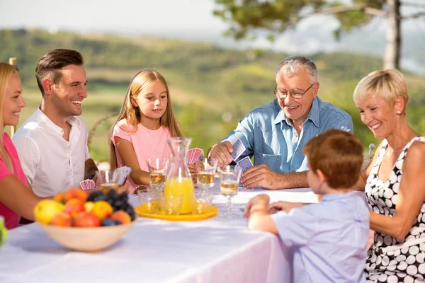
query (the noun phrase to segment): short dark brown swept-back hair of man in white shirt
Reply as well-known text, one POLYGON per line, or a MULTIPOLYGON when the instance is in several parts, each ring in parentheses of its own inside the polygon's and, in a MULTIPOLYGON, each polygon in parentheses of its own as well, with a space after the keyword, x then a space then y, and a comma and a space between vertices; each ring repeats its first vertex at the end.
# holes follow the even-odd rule
POLYGON ((41 94, 44 96, 43 80, 50 79, 57 84, 62 77, 61 70, 63 67, 68 65, 81 66, 82 64, 84 64, 83 56, 76 50, 55 49, 47 52, 35 67, 35 79, 37 79, 41 94))

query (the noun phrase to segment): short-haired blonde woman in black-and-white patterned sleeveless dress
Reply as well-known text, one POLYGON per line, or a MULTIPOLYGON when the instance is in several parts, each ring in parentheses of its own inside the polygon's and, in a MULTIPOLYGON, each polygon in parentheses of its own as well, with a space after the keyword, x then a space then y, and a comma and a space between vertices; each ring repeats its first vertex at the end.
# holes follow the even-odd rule
POLYGON ((361 172, 370 229, 368 282, 425 282, 425 137, 406 119, 409 100, 397 70, 374 71, 357 85, 354 101, 362 122, 383 139, 361 172))

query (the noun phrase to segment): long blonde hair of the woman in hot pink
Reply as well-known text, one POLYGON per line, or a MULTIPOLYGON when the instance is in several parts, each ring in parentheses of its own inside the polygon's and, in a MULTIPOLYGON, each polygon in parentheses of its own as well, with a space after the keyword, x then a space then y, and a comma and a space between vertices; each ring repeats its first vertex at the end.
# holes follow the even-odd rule
POLYGON ((4 163, 6 164, 6 167, 9 171, 13 173, 13 166, 10 156, 8 156, 8 153, 6 152, 6 149, 4 149, 3 144, 3 132, 4 132, 4 121, 3 121, 3 100, 4 96, 6 94, 6 88, 8 84, 8 80, 13 74, 18 74, 18 71, 16 71, 15 67, 13 67, 11 64, 0 62, 0 156, 3 159, 4 163))

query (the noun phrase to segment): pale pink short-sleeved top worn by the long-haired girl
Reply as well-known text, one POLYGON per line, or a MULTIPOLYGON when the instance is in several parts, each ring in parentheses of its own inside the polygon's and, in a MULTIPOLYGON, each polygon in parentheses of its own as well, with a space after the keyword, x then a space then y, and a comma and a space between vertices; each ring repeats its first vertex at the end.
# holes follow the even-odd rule
MULTIPOLYGON (((148 158, 171 157, 171 150, 169 145, 166 144, 166 139, 171 137, 168 128, 161 126, 159 129, 152 130, 147 129, 147 127, 139 123, 136 132, 127 132, 125 129, 130 129, 130 126, 125 119, 120 120, 113 128, 112 142, 115 145, 115 137, 130 141, 133 149, 135 149, 140 169, 143 171, 149 172, 146 163, 148 158)), ((118 154, 116 146, 115 154, 117 155, 118 167, 125 166, 123 160, 121 160, 120 154, 118 154)), ((133 192, 137 185, 135 185, 131 178, 128 178, 128 183, 130 183, 130 192, 133 192)))

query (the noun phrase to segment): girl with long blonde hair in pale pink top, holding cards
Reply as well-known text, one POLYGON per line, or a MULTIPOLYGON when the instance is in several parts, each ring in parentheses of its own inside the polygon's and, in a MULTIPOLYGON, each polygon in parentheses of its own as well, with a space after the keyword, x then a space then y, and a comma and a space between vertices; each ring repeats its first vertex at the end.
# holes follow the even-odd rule
MULTIPOLYGON (((164 76, 154 69, 137 73, 128 86, 120 115, 110 134, 111 168, 128 166, 130 192, 149 185, 148 158, 170 158, 169 137, 181 137, 164 76)), ((196 166, 188 165, 192 178, 196 166)))

